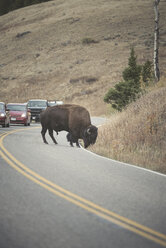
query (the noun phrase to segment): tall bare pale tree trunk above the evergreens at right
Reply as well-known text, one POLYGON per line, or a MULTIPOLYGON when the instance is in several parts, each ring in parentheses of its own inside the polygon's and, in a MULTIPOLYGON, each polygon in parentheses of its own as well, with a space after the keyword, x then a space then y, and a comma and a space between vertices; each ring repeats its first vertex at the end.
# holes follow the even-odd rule
POLYGON ((158 5, 160 0, 155 0, 154 2, 154 12, 155 12, 155 30, 154 30, 154 75, 156 82, 160 79, 159 70, 159 60, 158 60, 158 50, 159 50, 159 11, 158 5))

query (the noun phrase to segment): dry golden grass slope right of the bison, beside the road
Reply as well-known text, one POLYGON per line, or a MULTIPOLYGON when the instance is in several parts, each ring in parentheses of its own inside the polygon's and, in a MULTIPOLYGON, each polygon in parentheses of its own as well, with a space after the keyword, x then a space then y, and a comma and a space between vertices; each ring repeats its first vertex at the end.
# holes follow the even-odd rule
POLYGON ((99 128, 91 151, 166 173, 166 79, 99 128))

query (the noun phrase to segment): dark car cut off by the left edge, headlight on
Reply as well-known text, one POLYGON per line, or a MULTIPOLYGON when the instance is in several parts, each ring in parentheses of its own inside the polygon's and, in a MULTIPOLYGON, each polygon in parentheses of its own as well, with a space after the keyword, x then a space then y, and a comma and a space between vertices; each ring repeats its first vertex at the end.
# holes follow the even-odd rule
POLYGON ((2 127, 10 126, 9 111, 7 110, 4 102, 0 102, 0 125, 2 125, 2 127))

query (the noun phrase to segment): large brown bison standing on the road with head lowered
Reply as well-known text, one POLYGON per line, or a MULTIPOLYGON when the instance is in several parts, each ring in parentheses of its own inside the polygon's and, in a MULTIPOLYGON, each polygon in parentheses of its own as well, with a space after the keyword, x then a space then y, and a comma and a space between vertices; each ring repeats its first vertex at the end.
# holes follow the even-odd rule
POLYGON ((83 139, 84 147, 96 142, 98 129, 91 124, 90 114, 87 109, 74 104, 63 104, 48 107, 41 113, 42 138, 44 143, 48 144, 45 138, 47 130, 53 142, 57 144, 53 136, 53 131, 67 131, 67 140, 70 145, 76 143, 79 146, 78 139, 83 139))

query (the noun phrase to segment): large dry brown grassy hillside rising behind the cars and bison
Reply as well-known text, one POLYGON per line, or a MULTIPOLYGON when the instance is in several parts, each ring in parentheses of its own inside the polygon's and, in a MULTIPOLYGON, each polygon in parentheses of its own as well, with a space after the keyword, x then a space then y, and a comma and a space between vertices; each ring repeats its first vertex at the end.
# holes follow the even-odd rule
MULTIPOLYGON (((165 13, 161 1, 161 75, 165 13)), ((105 114, 103 96, 121 79, 130 47, 138 63, 152 61, 153 30, 151 0, 55 0, 0 16, 0 99, 60 99, 105 114)))

